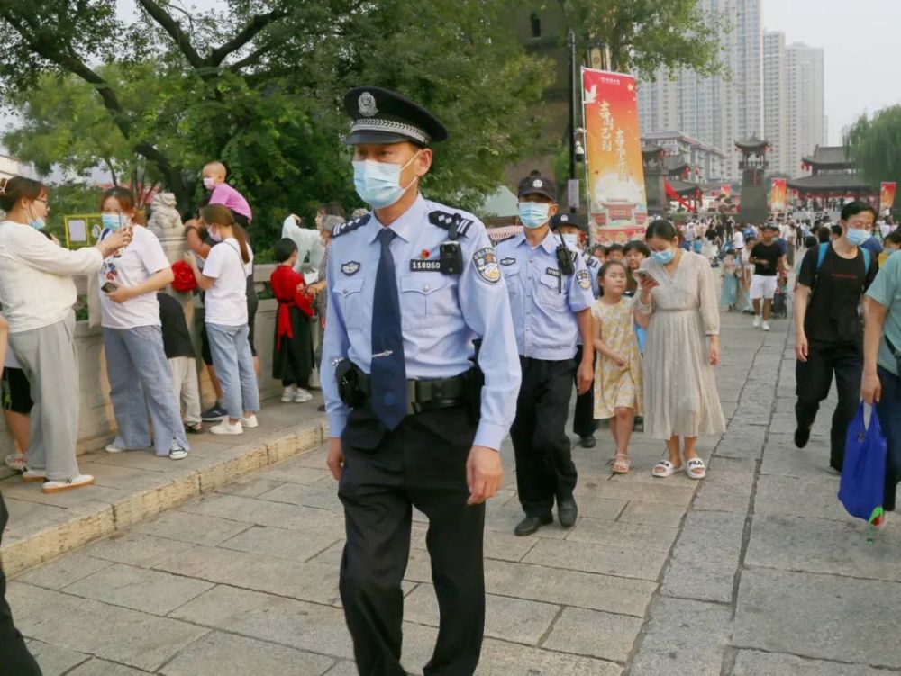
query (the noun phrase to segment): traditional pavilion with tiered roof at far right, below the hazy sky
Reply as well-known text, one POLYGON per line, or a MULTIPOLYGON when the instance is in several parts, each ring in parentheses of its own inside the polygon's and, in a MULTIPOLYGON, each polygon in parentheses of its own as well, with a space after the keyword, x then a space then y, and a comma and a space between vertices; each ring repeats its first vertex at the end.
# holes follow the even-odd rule
POLYGON ((788 181, 788 188, 795 190, 801 199, 866 200, 876 195, 854 166, 847 146, 817 146, 812 155, 802 158, 801 168, 811 172, 810 176, 788 181))

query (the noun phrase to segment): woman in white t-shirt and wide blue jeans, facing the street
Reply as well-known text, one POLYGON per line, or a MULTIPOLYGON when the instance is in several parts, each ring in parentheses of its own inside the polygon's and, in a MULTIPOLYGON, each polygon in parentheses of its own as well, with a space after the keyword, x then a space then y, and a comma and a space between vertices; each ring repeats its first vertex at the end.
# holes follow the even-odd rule
POLYGON ((147 411, 153 421, 154 452, 159 457, 187 457, 187 438, 172 389, 172 372, 163 351, 157 292, 174 275, 159 239, 135 224, 132 194, 110 188, 101 200, 104 230, 100 241, 122 227, 132 228, 132 243, 120 248, 100 268, 100 311, 118 431, 107 453, 150 446, 147 411), (146 404, 145 404, 146 398, 146 404))

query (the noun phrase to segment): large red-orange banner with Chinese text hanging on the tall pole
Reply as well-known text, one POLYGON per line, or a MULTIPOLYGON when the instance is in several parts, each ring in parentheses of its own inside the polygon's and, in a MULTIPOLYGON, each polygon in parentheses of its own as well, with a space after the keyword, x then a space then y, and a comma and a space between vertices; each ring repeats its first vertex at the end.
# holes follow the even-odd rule
POLYGON ((635 78, 582 68, 582 113, 591 241, 610 244, 642 238, 648 206, 635 78))

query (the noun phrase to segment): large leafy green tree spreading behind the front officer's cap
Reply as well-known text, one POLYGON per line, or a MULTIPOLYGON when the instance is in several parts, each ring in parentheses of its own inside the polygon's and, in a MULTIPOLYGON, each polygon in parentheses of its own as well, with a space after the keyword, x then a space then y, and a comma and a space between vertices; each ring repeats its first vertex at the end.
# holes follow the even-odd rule
POLYGON ((219 158, 275 230, 288 211, 358 202, 341 144, 350 86, 396 88, 448 124, 425 185, 437 199, 478 203, 539 142, 520 121, 549 68, 510 32, 513 0, 137 4, 128 22, 112 0, 0 0, 0 94, 23 120, 6 142, 23 159, 77 173, 96 160, 123 182, 141 167, 187 211, 219 158))

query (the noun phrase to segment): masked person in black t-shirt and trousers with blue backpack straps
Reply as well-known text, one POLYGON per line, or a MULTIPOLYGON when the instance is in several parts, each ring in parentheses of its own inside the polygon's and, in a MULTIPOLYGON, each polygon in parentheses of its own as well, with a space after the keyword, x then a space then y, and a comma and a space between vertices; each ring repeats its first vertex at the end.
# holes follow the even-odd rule
POLYGON ((860 301, 878 269, 872 254, 860 245, 869 239, 875 222, 876 211, 868 203, 845 204, 842 236, 810 248, 797 275, 795 445, 807 445, 834 373, 839 401, 833 413, 829 464, 837 472, 842 472, 848 424, 860 401, 860 301))

